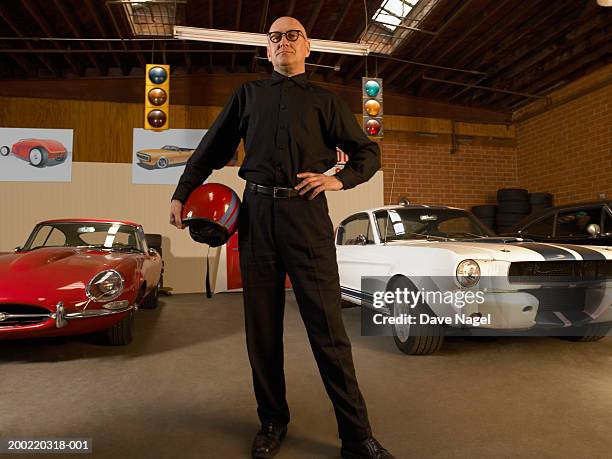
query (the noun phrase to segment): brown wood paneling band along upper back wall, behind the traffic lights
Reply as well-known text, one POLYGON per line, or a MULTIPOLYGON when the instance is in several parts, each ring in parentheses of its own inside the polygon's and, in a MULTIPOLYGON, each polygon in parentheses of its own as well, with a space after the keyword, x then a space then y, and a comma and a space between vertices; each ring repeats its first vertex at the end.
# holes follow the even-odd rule
MULTIPOLYGON (((206 129, 221 107, 172 105, 170 127, 206 129)), ((361 115, 355 115, 361 123, 361 115)), ((0 127, 73 129, 73 161, 131 163, 133 129, 143 126, 143 104, 84 100, 0 97, 0 127)), ((403 115, 385 117, 385 130, 440 134, 437 143, 450 144, 452 121, 403 115)), ((503 124, 455 123, 455 134, 478 137, 491 146, 512 146, 514 128, 503 124)), ((427 143, 427 142, 426 142, 427 143)), ((384 150, 384 141, 382 143, 384 150)), ((244 148, 239 147, 239 158, 244 148)))

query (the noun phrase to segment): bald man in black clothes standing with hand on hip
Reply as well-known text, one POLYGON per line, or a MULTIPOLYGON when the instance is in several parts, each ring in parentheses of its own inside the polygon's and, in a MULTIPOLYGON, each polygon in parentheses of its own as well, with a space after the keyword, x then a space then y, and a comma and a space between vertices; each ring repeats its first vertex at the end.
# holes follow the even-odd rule
POLYGON ((246 340, 262 424, 253 458, 275 455, 287 433, 283 370, 285 276, 289 274, 321 378, 333 403, 341 454, 392 458, 373 437, 342 323, 333 227, 324 191, 352 188, 380 167, 380 151, 334 94, 309 83, 310 43, 294 18, 268 33, 271 79, 242 85, 189 160, 171 203, 171 223, 183 227, 182 205, 213 169, 231 159, 240 139, 247 181, 238 225, 246 340), (336 146, 349 155, 336 162, 336 146))

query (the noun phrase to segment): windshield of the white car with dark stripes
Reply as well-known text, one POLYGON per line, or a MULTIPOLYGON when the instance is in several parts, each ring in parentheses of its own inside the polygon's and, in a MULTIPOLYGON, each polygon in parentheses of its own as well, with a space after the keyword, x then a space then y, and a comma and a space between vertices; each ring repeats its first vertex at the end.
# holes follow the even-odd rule
POLYGON ((381 241, 461 240, 493 236, 472 214, 459 209, 389 209, 375 213, 381 241))

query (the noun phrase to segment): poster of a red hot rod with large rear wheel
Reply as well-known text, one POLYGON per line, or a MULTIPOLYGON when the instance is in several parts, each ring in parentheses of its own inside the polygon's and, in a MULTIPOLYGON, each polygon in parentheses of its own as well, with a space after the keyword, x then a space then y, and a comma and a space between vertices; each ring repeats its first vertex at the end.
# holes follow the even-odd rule
POLYGON ((72 129, 0 128, 0 181, 70 182, 72 129))

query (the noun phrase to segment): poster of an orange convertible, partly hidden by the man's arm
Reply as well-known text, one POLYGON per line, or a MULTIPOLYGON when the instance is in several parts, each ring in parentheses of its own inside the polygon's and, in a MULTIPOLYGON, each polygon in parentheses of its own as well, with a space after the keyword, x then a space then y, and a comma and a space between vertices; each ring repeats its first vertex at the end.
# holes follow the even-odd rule
POLYGON ((132 183, 176 185, 206 129, 134 129, 132 183))

